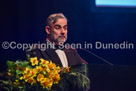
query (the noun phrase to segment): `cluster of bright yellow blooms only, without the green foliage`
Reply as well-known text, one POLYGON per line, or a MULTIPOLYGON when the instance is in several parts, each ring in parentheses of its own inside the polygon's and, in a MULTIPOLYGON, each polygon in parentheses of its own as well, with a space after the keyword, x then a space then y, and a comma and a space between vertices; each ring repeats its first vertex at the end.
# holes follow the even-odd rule
MULTIPOLYGON (((30 58, 31 65, 33 68, 26 67, 23 70, 20 80, 25 80, 25 82, 31 85, 39 82, 43 88, 51 89, 53 84, 57 84, 60 80, 60 67, 56 66, 52 61, 47 61, 37 57, 30 58)), ((16 82, 17 83, 17 82, 16 82)))

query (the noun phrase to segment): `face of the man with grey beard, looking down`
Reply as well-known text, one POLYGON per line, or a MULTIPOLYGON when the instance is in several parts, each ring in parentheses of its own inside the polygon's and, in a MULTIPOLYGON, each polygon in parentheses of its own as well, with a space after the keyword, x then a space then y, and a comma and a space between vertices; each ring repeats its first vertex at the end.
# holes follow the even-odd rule
POLYGON ((52 42, 60 43, 67 40, 67 20, 59 18, 50 26, 50 39, 52 42))

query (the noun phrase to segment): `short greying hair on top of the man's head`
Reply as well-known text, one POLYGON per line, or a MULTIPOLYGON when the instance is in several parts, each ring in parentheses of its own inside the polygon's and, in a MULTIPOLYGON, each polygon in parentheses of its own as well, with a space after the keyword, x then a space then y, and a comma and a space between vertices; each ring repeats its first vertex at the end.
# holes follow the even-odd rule
POLYGON ((56 23, 59 18, 64 18, 67 20, 67 18, 63 15, 63 13, 55 13, 49 15, 49 17, 46 20, 46 26, 50 26, 51 23, 56 23))

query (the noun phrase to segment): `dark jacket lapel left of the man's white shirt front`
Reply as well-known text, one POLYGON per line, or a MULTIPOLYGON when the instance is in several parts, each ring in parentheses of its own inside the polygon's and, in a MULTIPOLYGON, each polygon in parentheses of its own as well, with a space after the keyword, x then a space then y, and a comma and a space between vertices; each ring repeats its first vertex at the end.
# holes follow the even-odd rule
POLYGON ((52 62, 54 62, 55 64, 59 64, 59 66, 62 66, 60 58, 58 57, 54 49, 48 49, 45 52, 47 53, 48 57, 52 62))

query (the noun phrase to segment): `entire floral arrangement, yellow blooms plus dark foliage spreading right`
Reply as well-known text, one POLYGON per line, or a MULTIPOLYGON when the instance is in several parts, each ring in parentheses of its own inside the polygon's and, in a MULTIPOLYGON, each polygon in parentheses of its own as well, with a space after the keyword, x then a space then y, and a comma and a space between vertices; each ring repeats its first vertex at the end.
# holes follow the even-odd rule
POLYGON ((70 88, 69 83, 82 86, 78 89, 89 88, 89 79, 80 73, 84 70, 82 67, 59 67, 52 61, 37 57, 7 61, 7 65, 9 80, 3 81, 3 84, 8 87, 3 88, 9 91, 65 91, 70 88), (84 79, 86 83, 83 83, 84 79))

